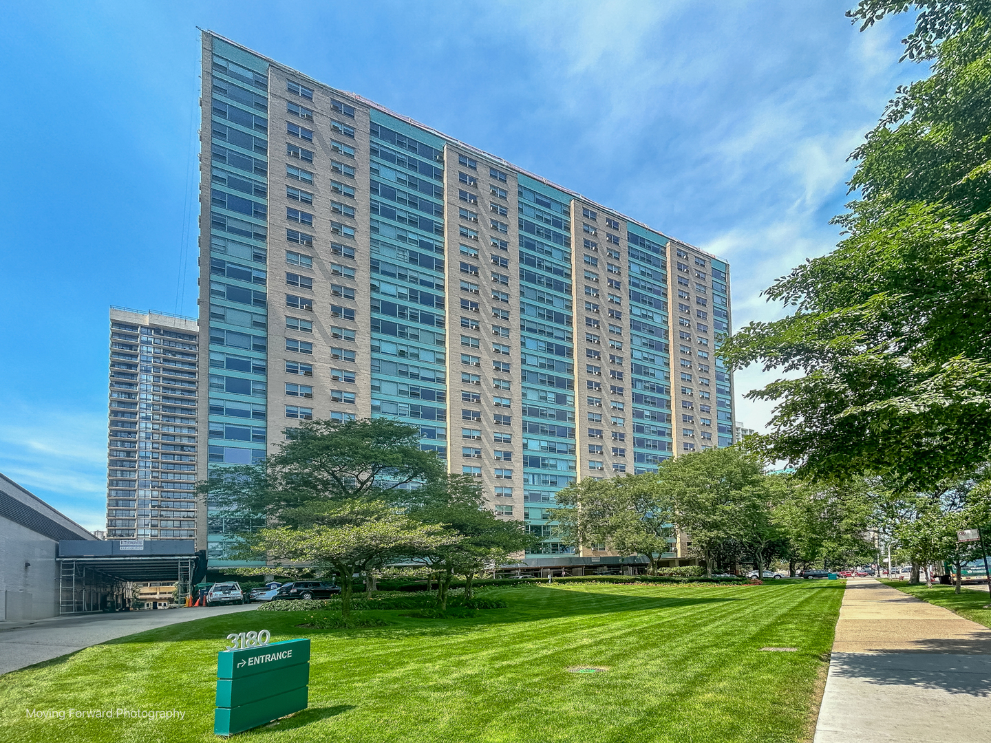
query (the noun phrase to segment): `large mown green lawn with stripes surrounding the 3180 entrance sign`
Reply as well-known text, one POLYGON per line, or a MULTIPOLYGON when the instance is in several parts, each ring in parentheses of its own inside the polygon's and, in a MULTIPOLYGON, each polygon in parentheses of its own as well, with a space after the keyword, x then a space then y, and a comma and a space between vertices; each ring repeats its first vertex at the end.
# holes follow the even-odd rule
POLYGON ((538 585, 509 608, 307 630, 297 612, 202 619, 0 677, 0 741, 208 741, 229 632, 311 637, 309 709, 251 741, 701 743, 810 740, 843 584, 538 585), (796 647, 796 653, 760 648, 796 647), (606 673, 573 674, 572 666, 606 673), (28 719, 26 708, 185 710, 183 722, 28 719))

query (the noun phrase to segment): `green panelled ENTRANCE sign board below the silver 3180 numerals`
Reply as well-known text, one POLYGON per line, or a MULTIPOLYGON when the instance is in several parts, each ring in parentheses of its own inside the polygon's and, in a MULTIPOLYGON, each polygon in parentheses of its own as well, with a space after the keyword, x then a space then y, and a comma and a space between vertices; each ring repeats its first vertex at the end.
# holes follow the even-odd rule
POLYGON ((305 709, 309 653, 308 639, 218 653, 213 732, 233 735, 305 709))

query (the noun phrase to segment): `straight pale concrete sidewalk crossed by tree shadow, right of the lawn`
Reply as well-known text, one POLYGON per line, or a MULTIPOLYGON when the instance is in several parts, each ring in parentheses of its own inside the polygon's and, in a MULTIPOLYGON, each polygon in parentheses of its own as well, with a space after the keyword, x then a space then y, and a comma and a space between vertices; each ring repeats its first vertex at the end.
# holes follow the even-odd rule
POLYGON ((815 743, 991 743, 991 629, 846 583, 815 743))

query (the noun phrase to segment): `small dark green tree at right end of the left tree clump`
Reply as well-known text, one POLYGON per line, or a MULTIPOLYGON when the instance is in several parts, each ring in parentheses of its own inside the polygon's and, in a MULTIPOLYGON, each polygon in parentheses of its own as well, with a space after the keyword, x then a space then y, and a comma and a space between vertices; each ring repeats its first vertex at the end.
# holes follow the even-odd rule
POLYGON ((521 521, 495 517, 481 488, 472 478, 453 476, 413 493, 409 516, 426 524, 443 524, 456 540, 438 545, 416 562, 427 565, 438 578, 437 606, 447 609, 448 590, 455 576, 465 577, 465 599, 471 600, 472 580, 486 567, 510 561, 514 553, 539 541, 521 521))

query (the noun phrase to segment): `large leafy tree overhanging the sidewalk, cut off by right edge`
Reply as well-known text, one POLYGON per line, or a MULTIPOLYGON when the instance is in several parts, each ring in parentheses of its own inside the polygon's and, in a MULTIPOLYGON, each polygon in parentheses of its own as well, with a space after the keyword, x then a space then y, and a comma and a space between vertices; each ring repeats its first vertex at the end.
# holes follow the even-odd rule
POLYGON ((792 314, 722 352, 799 374, 748 393, 777 402, 774 430, 748 439, 765 459, 927 491, 991 458, 991 4, 863 0, 850 15, 867 28, 913 7, 906 53, 932 74, 853 153, 845 239, 765 292, 792 314))

